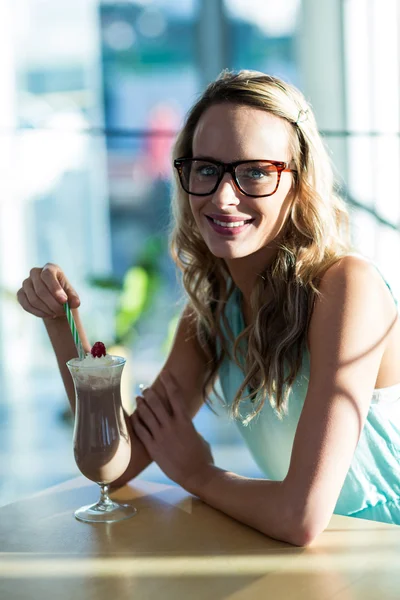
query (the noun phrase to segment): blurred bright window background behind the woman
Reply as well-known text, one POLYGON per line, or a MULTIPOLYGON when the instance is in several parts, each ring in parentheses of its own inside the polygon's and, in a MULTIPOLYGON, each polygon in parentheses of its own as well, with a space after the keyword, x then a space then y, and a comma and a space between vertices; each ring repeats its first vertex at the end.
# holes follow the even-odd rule
MULTIPOLYGON (((17 290, 59 264, 89 339, 129 358, 124 402, 153 380, 182 307, 170 149, 223 68, 303 91, 354 243, 400 298, 399 48, 398 0, 1 0, 0 505, 79 474, 50 343, 17 290)), ((259 475, 234 425, 206 407, 196 425, 218 465, 259 475)))

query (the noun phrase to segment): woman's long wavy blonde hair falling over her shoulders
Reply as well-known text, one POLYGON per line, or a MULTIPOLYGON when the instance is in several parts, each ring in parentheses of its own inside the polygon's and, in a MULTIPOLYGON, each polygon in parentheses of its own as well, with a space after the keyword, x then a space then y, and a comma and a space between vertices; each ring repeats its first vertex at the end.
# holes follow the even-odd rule
POLYGON ((210 405, 211 391, 218 396, 215 383, 228 356, 244 372, 244 381, 232 403, 233 416, 239 418, 240 403, 251 398, 254 410, 246 419, 249 422, 268 397, 282 418, 307 349, 308 326, 314 301, 320 295, 321 276, 351 250, 349 218, 344 202, 334 192, 332 166, 310 106, 296 88, 276 77, 255 71, 223 71, 188 113, 173 158, 192 156, 193 136, 201 115, 221 103, 262 109, 284 119, 297 171, 276 258, 259 273, 251 293, 254 323, 234 339, 225 306, 235 286, 225 261, 206 246, 176 173, 170 251, 182 272, 189 313, 207 364, 205 402, 210 405), (246 394, 247 387, 250 394, 246 394))

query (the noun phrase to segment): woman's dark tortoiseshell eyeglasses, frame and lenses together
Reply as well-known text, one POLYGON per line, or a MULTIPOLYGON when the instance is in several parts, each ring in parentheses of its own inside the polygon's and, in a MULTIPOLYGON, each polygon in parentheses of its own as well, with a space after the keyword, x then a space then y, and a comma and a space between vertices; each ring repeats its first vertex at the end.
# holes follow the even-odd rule
POLYGON ((252 198, 272 196, 278 189, 283 171, 295 173, 289 163, 277 160, 239 160, 223 163, 200 158, 177 158, 174 167, 178 171, 181 186, 192 196, 213 194, 225 173, 243 194, 252 198))

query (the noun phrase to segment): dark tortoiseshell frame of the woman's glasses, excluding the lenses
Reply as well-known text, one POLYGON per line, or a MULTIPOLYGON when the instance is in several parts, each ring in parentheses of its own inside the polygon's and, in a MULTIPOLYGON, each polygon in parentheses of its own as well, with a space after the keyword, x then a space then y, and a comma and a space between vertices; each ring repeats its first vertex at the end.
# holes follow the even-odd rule
POLYGON ((266 198, 267 196, 272 196, 273 194, 275 194, 276 190, 279 187, 281 175, 284 171, 289 172, 289 173, 297 173, 297 171, 295 169, 290 168, 290 164, 287 162, 282 162, 279 160, 267 160, 265 158, 260 158, 260 159, 253 158, 251 160, 237 160, 237 161, 231 162, 231 163, 223 163, 219 160, 212 160, 212 159, 208 159, 208 158, 195 158, 195 157, 191 156, 191 157, 186 157, 186 158, 176 158, 174 160, 174 167, 178 171, 179 181, 181 183, 182 188, 185 190, 185 192, 187 194, 190 194, 191 196, 210 196, 211 194, 214 194, 217 191, 218 186, 221 183, 225 173, 230 173, 232 175, 232 179, 233 179, 235 186, 242 194, 244 194, 245 196, 250 196, 250 198, 266 198), (219 176, 218 176, 215 186, 213 187, 213 189, 210 192, 207 192, 206 194, 189 192, 189 190, 186 189, 186 187, 185 187, 185 182, 184 182, 184 177, 183 177, 183 168, 184 168, 185 164, 189 164, 194 161, 207 162, 212 165, 215 165, 219 169, 219 176), (274 165, 274 167, 276 168, 277 173, 278 173, 278 178, 277 178, 276 186, 275 186, 275 189, 273 192, 270 192, 269 194, 248 194, 240 187, 240 183, 238 181, 238 178, 236 177, 236 168, 239 167, 240 165, 244 165, 247 163, 253 163, 253 162, 267 162, 271 165, 274 165))

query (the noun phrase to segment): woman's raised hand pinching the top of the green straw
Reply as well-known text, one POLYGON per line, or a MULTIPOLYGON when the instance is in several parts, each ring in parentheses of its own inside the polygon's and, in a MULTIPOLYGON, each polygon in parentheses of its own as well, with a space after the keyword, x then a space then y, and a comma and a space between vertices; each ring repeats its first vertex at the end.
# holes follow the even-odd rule
POLYGON ((33 268, 17 292, 17 299, 26 312, 42 319, 64 317, 63 304, 71 308, 80 305, 79 296, 58 265, 46 263, 33 268))

